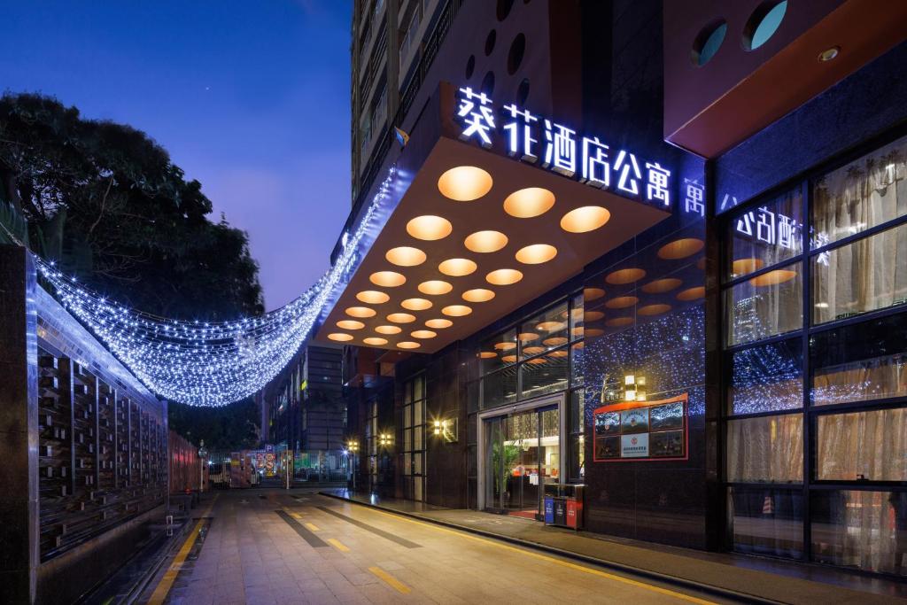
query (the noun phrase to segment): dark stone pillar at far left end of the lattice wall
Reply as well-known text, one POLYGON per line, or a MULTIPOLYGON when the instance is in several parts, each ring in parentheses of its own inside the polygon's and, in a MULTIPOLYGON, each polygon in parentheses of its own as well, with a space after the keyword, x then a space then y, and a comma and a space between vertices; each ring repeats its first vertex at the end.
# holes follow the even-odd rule
POLYGON ((34 260, 0 246, 0 602, 32 603, 38 551, 34 260))

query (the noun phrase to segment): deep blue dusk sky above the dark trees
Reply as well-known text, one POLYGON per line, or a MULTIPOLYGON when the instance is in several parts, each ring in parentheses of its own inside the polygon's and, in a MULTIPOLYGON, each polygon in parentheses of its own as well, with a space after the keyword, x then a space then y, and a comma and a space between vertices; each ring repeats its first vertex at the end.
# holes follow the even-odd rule
POLYGON ((327 268, 350 207, 351 0, 4 3, 0 88, 171 153, 249 231, 268 309, 327 268))

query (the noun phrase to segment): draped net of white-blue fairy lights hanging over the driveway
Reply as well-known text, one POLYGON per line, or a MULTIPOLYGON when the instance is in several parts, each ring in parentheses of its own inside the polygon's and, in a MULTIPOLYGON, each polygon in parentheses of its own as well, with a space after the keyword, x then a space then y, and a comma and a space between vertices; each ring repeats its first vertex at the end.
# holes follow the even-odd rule
POLYGON ((83 288, 54 263, 37 259, 37 267, 63 307, 152 391, 189 405, 226 405, 257 392, 297 353, 356 268, 359 244, 374 226, 395 174, 392 167, 325 275, 293 302, 260 317, 219 323, 155 317, 83 288))

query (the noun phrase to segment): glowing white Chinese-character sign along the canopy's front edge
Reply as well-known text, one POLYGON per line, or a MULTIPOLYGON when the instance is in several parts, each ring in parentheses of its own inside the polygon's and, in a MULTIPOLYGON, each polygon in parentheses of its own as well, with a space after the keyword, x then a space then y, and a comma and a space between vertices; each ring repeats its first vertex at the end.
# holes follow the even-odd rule
MULTIPOLYGON (((459 89, 457 118, 463 141, 492 146, 498 132, 498 117, 491 98, 472 88, 459 89)), ((539 163, 566 177, 619 195, 659 205, 671 205, 671 172, 658 162, 640 161, 627 150, 612 150, 598 136, 580 136, 576 131, 515 104, 502 108, 502 130, 508 154, 522 161, 539 163)))

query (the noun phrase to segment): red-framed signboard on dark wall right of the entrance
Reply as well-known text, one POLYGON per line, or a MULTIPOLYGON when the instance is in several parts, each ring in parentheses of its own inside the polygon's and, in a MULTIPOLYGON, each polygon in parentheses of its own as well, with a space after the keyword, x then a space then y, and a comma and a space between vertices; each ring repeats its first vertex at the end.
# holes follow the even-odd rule
POLYGON ((597 463, 687 460, 688 395, 602 405, 592 413, 597 463))

